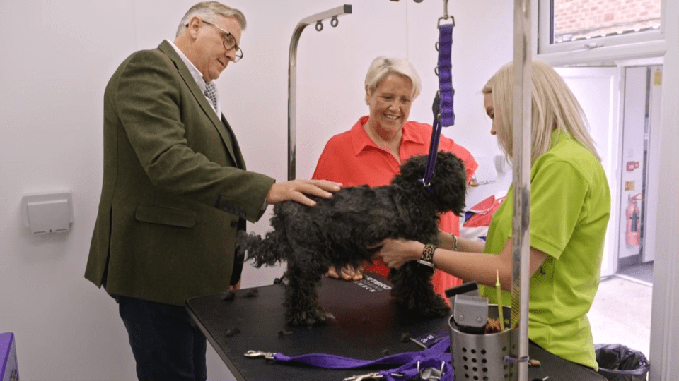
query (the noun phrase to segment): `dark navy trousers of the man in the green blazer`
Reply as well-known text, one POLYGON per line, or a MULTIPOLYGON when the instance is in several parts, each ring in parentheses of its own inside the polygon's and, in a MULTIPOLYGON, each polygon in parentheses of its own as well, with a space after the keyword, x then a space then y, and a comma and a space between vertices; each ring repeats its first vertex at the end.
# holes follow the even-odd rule
POLYGON ((205 381, 204 335, 182 306, 113 296, 127 328, 140 381, 205 381))

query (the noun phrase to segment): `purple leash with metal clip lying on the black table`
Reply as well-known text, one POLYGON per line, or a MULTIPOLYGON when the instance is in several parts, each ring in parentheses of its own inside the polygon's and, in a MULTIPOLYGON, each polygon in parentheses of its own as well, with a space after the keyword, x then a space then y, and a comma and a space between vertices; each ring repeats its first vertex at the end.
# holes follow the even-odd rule
POLYGON ((245 353, 245 356, 264 356, 265 358, 282 363, 305 363, 324 369, 354 369, 380 364, 401 365, 398 368, 378 372, 380 377, 383 377, 388 381, 410 380, 414 375, 417 375, 418 370, 426 368, 443 368, 443 377, 441 377, 441 380, 452 381, 453 373, 450 365, 451 354, 448 351, 450 346, 451 339, 448 336, 423 351, 397 353, 376 360, 359 360, 327 353, 307 353, 299 356, 286 356, 283 353, 249 351, 248 353, 245 353))

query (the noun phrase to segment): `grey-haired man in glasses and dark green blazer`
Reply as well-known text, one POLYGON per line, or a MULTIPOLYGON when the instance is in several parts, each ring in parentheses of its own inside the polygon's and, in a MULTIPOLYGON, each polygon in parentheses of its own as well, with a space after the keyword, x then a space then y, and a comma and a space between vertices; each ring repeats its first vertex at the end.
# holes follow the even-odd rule
POLYGON ((174 42, 129 56, 104 94, 104 173, 85 277, 119 303, 139 380, 205 380, 187 298, 238 288, 236 231, 267 204, 332 197, 336 183, 245 169, 213 80, 243 56, 240 11, 190 8, 174 42), (210 93, 211 92, 211 93, 210 93), (230 282, 231 281, 231 282, 230 282))

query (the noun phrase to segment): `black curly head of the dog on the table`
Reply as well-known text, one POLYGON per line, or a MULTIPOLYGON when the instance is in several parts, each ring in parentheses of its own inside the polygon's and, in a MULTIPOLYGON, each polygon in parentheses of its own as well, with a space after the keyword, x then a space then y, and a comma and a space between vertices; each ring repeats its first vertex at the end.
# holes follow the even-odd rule
MULTIPOLYGON (((428 155, 417 155, 401 165, 401 174, 394 177, 392 183, 408 186, 412 183, 424 189, 420 179, 424 178, 428 155)), ((436 155, 434 174, 431 176, 429 187, 433 191, 436 210, 439 212, 452 211, 462 214, 465 209, 465 193, 467 190, 467 172, 465 164, 451 152, 439 151, 436 155)), ((430 195, 427 195, 431 197, 430 195)))

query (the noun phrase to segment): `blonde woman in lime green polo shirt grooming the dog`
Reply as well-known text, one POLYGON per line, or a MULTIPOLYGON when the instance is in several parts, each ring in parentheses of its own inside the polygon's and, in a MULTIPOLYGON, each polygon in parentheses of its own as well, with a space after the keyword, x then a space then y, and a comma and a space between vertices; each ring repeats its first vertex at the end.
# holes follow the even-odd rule
MULTIPOLYGON (((598 369, 586 317, 599 285, 603 242, 610 216, 608 181, 588 133, 584 113, 563 78, 547 63, 533 62, 530 171, 530 313, 528 336, 542 348, 598 369)), ((512 157, 513 66, 499 69, 483 88, 491 135, 512 157)), ((509 188, 507 200, 512 198, 509 188)), ((496 270, 509 305, 511 202, 495 212, 487 241, 439 234, 431 259, 455 277, 494 286, 496 270)), ((388 239, 380 250, 390 267, 419 260, 424 243, 388 239)), ((427 253, 431 253, 428 248, 427 253)), ((494 289, 483 292, 497 303, 494 289)))

